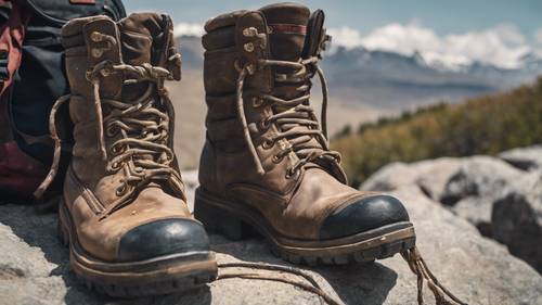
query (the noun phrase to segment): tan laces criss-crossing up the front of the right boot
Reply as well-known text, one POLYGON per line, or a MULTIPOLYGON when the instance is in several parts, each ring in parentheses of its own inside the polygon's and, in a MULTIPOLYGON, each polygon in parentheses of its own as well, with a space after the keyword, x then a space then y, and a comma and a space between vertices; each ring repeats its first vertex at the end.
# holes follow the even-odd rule
MULTIPOLYGON (((254 74, 256 68, 263 68, 266 66, 286 67, 293 69, 294 72, 289 74, 275 74, 274 81, 279 85, 301 84, 296 88, 296 91, 304 92, 301 97, 291 100, 281 99, 276 96, 266 93, 260 93, 253 98, 253 106, 255 107, 261 106, 263 103, 269 103, 272 107, 276 106, 286 109, 286 111, 268 116, 259 123, 260 127, 263 129, 269 128, 272 124, 274 124, 279 129, 279 132, 274 137, 266 140, 263 143, 264 148, 270 148, 275 142, 283 139, 286 140, 286 144, 281 145, 282 149, 273 157, 273 161, 278 163, 292 152, 296 154, 297 161, 287 169, 287 177, 295 176, 307 163, 314 162, 319 158, 327 158, 337 163, 340 162, 340 154, 328 149, 326 127, 327 85, 322 69, 318 66, 318 56, 299 60, 298 62, 259 60, 256 64, 257 66, 255 64, 245 64, 240 69, 236 82, 237 112, 243 127, 245 142, 248 145, 256 169, 260 175, 266 174, 266 171, 250 137, 243 103, 243 87, 244 80, 248 75, 254 74), (319 75, 322 87, 322 111, 320 115, 322 126, 318 123, 314 110, 309 105, 310 86, 307 84, 313 76, 313 73, 309 72, 311 68, 319 75), (319 144, 307 145, 307 143, 313 138, 318 140, 319 144)), ((275 91, 280 91, 280 88, 275 88, 275 91)))

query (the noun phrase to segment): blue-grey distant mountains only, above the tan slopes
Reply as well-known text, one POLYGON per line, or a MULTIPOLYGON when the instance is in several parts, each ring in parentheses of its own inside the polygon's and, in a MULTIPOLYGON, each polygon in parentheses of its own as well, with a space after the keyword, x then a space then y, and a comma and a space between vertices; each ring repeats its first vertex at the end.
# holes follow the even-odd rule
MULTIPOLYGON (((201 69, 201 38, 182 36, 179 42, 183 66, 201 69)), ((517 67, 504 68, 478 61, 450 65, 428 61, 420 52, 405 55, 364 47, 335 47, 324 55, 321 66, 334 99, 397 111, 502 91, 542 75, 542 58, 535 53, 522 56, 517 67)))

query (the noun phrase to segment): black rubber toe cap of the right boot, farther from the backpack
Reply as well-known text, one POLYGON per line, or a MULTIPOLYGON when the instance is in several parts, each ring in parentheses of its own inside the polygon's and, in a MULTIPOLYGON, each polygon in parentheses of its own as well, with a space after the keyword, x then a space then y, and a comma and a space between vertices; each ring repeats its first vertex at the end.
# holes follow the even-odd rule
POLYGON ((398 199, 366 196, 330 215, 320 229, 320 238, 336 239, 401 221, 409 221, 409 214, 398 199))

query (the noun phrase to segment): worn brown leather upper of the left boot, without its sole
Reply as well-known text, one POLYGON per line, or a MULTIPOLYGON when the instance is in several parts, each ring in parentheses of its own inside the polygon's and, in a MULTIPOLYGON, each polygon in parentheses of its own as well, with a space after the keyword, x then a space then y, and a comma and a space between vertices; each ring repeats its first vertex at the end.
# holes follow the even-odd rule
POLYGON ((112 262, 144 259, 186 247, 208 250, 203 226, 188 209, 177 162, 164 148, 172 148, 173 126, 171 107, 158 92, 162 89, 152 86, 153 80, 125 84, 139 77, 128 69, 101 71, 98 79, 89 77, 90 71, 105 61, 111 65, 159 66, 169 72, 168 78, 180 79, 180 60, 168 61, 175 55, 169 17, 142 13, 119 23, 106 16, 77 18, 64 26, 62 35, 75 124, 64 202, 78 242, 93 257, 112 262), (105 158, 93 80, 100 82, 105 158), (141 100, 145 94, 149 99, 141 100), (149 129, 142 127, 145 124, 149 129), (132 139, 146 140, 139 143, 132 139), (116 158, 127 151, 133 154, 116 158), (169 164, 165 167, 173 174, 149 175, 155 164, 169 164), (141 176, 133 179, 137 175, 141 176), (194 238, 197 243, 190 242, 194 238))

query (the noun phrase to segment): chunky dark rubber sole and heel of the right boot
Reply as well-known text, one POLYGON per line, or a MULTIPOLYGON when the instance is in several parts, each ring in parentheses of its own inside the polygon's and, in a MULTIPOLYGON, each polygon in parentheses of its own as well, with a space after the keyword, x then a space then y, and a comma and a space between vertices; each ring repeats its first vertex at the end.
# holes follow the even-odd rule
POLYGON ((231 240, 260 234, 275 256, 309 266, 370 263, 412 249, 416 242, 414 227, 409 221, 332 240, 286 238, 274 231, 254 207, 225 201, 202 188, 196 189, 194 216, 209 233, 220 233, 231 240))

